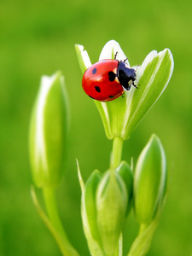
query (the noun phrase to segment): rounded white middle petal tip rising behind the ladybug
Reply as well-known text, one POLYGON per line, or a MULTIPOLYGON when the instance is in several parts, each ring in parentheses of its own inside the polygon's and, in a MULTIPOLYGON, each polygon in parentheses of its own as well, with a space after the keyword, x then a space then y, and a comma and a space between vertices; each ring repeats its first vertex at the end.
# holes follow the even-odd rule
MULTIPOLYGON (((119 43, 116 42, 115 40, 110 40, 102 48, 102 52, 99 57, 99 60, 101 61, 104 59, 113 59, 116 52, 118 52, 117 60, 124 61, 126 59, 125 53, 120 48, 119 43)), ((128 60, 126 60, 125 63, 130 67, 130 63, 128 60)))

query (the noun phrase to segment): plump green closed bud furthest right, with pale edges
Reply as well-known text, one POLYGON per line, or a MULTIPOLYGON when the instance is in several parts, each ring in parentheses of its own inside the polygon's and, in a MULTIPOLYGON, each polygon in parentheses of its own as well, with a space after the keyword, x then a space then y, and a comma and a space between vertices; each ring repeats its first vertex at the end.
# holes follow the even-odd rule
POLYGON ((134 178, 134 210, 140 224, 150 224, 166 191, 166 154, 153 135, 137 160, 134 178))

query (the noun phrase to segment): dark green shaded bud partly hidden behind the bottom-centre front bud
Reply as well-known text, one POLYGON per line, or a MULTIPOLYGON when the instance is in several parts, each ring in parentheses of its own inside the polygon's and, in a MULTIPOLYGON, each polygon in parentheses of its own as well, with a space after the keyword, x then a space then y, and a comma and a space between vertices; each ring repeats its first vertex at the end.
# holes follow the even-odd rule
POLYGON ((131 167, 125 161, 122 161, 115 171, 119 173, 119 176, 125 182, 127 195, 128 195, 128 203, 127 203, 127 209, 126 209, 126 215, 127 215, 130 212, 131 206, 132 206, 131 202, 132 202, 132 196, 133 196, 133 173, 132 173, 131 167))

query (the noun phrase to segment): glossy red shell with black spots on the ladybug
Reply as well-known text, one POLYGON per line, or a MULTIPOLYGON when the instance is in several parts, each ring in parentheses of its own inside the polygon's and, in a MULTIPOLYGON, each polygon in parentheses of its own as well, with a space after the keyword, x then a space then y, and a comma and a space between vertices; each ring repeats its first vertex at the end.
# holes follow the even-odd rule
POLYGON ((102 60, 90 66, 84 73, 82 86, 84 92, 100 102, 109 102, 124 93, 117 78, 119 61, 102 60))

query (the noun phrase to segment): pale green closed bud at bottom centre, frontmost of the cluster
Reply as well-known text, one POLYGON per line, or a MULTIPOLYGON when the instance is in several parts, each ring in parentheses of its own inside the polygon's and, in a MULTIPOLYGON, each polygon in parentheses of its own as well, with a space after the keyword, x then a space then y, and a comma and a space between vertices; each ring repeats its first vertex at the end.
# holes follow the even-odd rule
POLYGON ((108 171, 96 192, 97 226, 105 255, 114 255, 125 221, 128 196, 123 179, 108 171))

